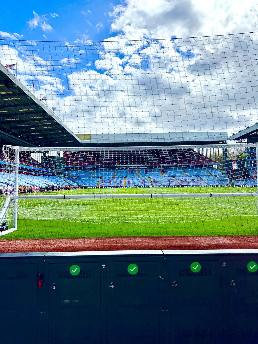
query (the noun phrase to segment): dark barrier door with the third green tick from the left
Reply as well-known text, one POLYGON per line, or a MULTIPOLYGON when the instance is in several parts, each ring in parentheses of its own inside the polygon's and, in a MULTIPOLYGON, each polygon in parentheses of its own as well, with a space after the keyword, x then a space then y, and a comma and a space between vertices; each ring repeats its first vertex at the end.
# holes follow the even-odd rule
POLYGON ((221 262, 170 261, 169 281, 168 343, 217 344, 223 324, 221 262))

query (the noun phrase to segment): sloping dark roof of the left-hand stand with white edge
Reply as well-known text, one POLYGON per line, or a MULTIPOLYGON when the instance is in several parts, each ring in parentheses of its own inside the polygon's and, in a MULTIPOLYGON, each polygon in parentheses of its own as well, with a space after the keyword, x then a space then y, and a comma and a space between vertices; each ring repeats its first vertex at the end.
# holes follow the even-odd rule
POLYGON ((78 146, 76 135, 0 63, 0 139, 18 146, 78 146))

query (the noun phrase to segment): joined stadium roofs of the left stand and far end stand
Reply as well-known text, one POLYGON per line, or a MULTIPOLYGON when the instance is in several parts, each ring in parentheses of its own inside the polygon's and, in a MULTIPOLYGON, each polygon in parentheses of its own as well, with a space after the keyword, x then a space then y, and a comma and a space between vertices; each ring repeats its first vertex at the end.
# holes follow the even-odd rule
POLYGON ((26 147, 211 144, 226 131, 74 134, 21 80, 0 63, 0 143, 26 147))

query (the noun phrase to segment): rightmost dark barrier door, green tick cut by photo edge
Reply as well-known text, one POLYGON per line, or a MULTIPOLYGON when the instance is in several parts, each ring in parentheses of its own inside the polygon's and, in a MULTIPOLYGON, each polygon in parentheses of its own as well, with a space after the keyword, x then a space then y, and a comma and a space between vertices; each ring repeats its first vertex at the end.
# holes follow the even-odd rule
POLYGON ((227 338, 234 344, 258 343, 258 255, 236 257, 226 264, 227 338))

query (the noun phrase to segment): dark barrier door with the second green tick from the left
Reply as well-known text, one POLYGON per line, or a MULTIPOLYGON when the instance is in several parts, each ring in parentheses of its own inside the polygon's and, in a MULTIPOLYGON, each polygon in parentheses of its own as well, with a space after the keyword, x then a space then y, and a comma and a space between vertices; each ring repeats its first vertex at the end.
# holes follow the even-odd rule
POLYGON ((107 264, 109 344, 160 343, 159 266, 147 259, 107 264))

